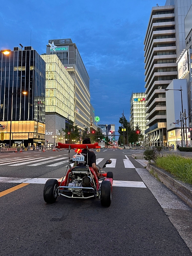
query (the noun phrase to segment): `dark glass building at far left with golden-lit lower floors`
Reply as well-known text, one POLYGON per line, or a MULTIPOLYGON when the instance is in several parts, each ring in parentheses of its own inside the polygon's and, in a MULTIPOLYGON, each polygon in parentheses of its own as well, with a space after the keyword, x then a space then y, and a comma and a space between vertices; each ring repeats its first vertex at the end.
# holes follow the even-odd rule
POLYGON ((2 146, 44 144, 45 62, 31 47, 0 52, 2 146), (25 94, 24 94, 25 93, 25 94), (11 131, 10 131, 11 126, 11 131))

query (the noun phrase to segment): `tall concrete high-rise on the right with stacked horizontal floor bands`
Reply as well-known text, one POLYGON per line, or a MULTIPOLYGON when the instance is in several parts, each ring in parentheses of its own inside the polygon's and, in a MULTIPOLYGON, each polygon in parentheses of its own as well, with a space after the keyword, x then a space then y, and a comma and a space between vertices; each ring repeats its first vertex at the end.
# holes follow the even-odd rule
POLYGON ((152 8, 144 40, 146 119, 149 145, 167 144, 166 96, 164 89, 178 78, 177 63, 185 49, 184 18, 192 0, 167 0, 152 8))

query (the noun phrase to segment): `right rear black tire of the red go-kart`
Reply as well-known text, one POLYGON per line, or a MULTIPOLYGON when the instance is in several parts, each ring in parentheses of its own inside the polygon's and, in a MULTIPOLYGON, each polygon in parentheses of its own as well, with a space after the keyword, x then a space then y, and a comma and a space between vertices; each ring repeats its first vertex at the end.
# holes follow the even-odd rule
POLYGON ((111 182, 109 180, 103 180, 101 183, 100 200, 102 206, 109 207, 111 204, 111 182))

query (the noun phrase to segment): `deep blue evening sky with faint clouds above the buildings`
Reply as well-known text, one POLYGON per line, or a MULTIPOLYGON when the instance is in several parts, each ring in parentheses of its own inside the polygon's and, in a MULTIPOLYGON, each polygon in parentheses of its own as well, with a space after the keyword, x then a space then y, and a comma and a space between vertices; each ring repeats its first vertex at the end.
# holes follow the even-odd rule
POLYGON ((90 77, 100 124, 129 120, 130 97, 144 88, 144 36, 151 8, 165 0, 7 0, 0 10, 0 49, 31 45, 46 52, 49 39, 71 38, 90 77))

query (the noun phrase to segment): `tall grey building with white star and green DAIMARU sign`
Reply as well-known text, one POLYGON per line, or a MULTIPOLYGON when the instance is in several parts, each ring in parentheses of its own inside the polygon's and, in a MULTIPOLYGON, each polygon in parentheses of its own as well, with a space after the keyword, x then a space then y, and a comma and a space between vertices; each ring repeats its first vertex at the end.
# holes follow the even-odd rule
POLYGON ((83 129, 90 126, 89 76, 76 44, 71 39, 52 39, 47 54, 56 54, 75 84, 75 123, 83 129))

